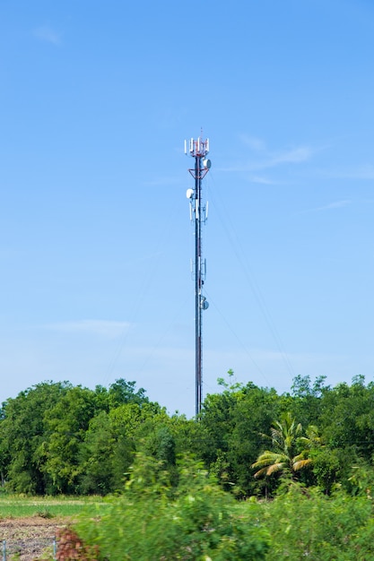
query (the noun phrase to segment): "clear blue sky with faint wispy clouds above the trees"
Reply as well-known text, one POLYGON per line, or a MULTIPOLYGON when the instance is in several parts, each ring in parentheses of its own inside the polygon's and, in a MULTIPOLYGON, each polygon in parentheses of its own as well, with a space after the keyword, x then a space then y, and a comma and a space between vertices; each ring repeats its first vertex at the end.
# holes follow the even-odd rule
POLYGON ((374 4, 0 1, 1 401, 195 411, 184 140, 210 139, 204 394, 374 374, 374 4))

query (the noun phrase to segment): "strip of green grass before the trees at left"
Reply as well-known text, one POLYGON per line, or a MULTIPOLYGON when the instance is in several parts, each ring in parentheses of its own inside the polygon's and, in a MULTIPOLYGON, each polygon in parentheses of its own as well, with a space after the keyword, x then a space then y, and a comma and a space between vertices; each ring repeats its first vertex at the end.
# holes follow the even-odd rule
POLYGON ((0 519, 42 516, 43 518, 74 517, 83 511, 104 511, 101 496, 16 496, 0 495, 0 519))

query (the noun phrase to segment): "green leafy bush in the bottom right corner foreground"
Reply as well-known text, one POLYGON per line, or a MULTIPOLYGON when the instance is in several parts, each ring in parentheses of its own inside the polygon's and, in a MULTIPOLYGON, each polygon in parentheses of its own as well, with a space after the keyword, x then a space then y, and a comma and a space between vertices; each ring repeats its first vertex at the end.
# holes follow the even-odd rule
POLYGON ((329 497, 293 485, 264 505, 272 535, 269 561, 365 561, 374 558, 373 505, 367 497, 340 490, 329 497))

